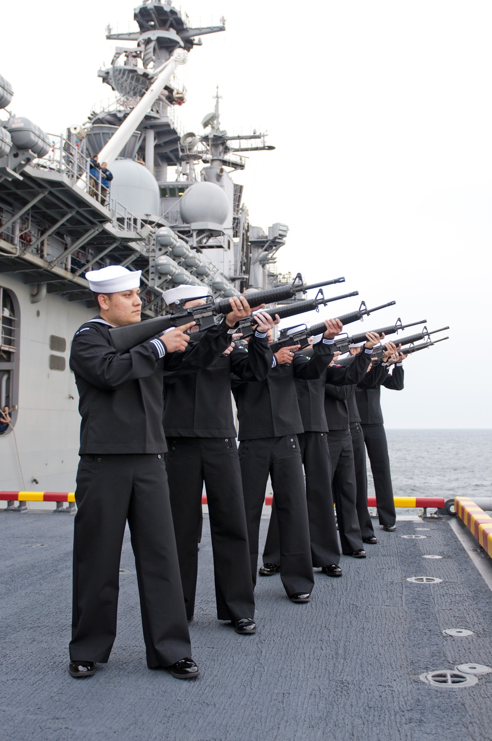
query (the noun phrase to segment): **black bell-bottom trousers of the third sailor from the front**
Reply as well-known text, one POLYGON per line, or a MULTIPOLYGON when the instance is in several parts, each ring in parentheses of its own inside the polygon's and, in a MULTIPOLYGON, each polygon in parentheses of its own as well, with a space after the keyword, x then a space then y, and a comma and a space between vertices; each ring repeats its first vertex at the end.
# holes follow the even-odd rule
POLYGON ((242 440, 239 443, 242 490, 245 496, 251 574, 256 584, 259 525, 268 474, 279 523, 280 578, 290 597, 313 591, 306 490, 296 435, 242 440))

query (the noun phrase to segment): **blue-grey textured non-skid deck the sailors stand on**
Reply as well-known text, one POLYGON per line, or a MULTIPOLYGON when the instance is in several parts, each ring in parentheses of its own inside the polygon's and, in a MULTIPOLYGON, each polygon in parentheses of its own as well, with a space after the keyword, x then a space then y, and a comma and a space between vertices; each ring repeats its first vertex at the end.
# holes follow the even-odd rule
POLYGON ((196 682, 146 668, 128 534, 110 662, 91 679, 68 676, 72 529, 69 515, 0 514, 4 741, 492 737, 492 674, 469 688, 433 688, 419 679, 456 664, 492 666, 492 592, 445 520, 399 522, 396 534, 378 533, 367 559, 342 557, 342 579, 316 573, 309 605, 293 605, 279 576, 260 578, 259 632, 242 637, 215 619, 205 519, 190 626, 202 671, 196 682), (407 576, 443 581, 416 585, 407 576), (474 635, 445 637, 445 628, 474 635))

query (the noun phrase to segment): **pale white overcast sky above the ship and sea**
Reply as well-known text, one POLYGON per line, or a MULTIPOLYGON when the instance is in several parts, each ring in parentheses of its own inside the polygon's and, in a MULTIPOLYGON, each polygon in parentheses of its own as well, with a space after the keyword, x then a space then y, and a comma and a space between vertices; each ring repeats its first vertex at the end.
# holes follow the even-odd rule
MULTIPOLYGON (((96 73, 104 28, 133 27, 128 0, 4 3, 0 73, 12 110, 48 132, 83 122, 110 95, 96 73)), ((183 2, 203 37, 186 65, 187 130, 213 108, 222 126, 267 130, 244 200, 253 224, 285 222, 279 268, 310 282, 345 275, 394 310, 353 332, 428 319, 451 339, 405 362, 403 393, 383 390, 388 427, 490 428, 491 21, 488 1, 183 2)), ((123 42, 119 44, 124 45, 123 42)), ((337 304, 339 313, 355 299, 337 304)), ((314 316, 316 321, 318 315, 314 316)))

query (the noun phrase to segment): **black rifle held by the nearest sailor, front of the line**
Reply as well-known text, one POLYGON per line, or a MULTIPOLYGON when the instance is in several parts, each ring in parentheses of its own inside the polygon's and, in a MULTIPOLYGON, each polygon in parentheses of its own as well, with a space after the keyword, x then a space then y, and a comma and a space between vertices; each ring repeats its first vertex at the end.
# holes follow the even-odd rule
MULTIPOLYGON (((345 283, 345 278, 333 278, 320 283, 311 283, 305 285, 301 273, 297 273, 293 283, 279 288, 268 288, 267 290, 258 290, 246 296, 248 302, 253 302, 253 306, 262 304, 273 304, 277 301, 287 301, 293 299, 298 293, 306 293, 312 288, 322 288, 325 285, 334 283, 345 283)), ((180 327, 188 322, 196 322, 192 332, 199 332, 216 323, 216 316, 219 314, 226 315, 232 311, 229 299, 220 299, 214 301, 212 296, 207 296, 207 302, 200 306, 193 306, 182 311, 171 311, 165 316, 156 316, 155 319, 146 319, 144 322, 126 325, 124 327, 113 327, 110 329, 110 338, 113 347, 119 353, 126 353, 130 348, 141 345, 147 339, 152 339, 165 330, 172 327, 180 327)), ((190 300, 190 299, 187 299, 190 300)), ((250 304, 251 305, 251 304, 250 304)))

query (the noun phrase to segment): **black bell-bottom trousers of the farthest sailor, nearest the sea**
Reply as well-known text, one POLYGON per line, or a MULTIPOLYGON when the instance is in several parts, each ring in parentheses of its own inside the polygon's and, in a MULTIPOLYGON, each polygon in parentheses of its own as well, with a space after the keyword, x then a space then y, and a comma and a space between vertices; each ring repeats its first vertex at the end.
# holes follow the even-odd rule
POLYGON ((380 525, 396 522, 393 485, 391 484, 390 456, 384 425, 362 425, 365 447, 368 449, 370 470, 373 473, 374 491, 380 525))

